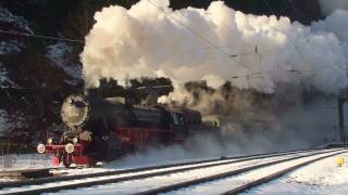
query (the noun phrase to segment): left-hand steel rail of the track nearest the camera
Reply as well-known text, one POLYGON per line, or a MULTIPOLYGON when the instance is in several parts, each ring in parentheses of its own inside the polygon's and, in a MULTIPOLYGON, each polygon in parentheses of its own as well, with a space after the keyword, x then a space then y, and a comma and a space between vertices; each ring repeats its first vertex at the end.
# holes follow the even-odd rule
POLYGON ((179 183, 175 183, 175 184, 171 184, 171 185, 165 185, 165 186, 161 186, 161 187, 158 187, 158 188, 152 188, 152 190, 149 190, 149 191, 138 192, 138 193, 134 193, 134 195, 151 195, 151 194, 166 193, 166 192, 171 192, 171 191, 176 191, 178 188, 184 188, 184 187, 197 185, 197 184, 203 183, 203 182, 209 182, 209 181, 214 181, 214 180, 224 179, 224 178, 228 178, 228 177, 234 177, 234 176, 247 172, 247 171, 252 171, 252 170, 260 169, 260 168, 263 168, 263 167, 269 167, 269 166, 272 166, 272 165, 276 165, 276 164, 281 164, 281 162, 285 162, 285 161, 290 161, 290 160, 295 160, 295 159, 299 159, 299 158, 315 156, 315 155, 325 154, 325 153, 335 153, 335 152, 336 153, 333 154, 333 155, 337 155, 337 154, 341 154, 341 153, 346 153, 347 152, 344 148, 343 150, 338 150, 338 151, 344 151, 344 152, 337 152, 337 151, 319 152, 319 153, 315 153, 315 154, 309 154, 309 155, 304 155, 304 156, 297 156, 297 157, 291 157, 291 158, 286 158, 286 159, 281 159, 281 160, 274 160, 274 161, 260 164, 260 165, 256 165, 256 166, 250 166, 250 167, 236 169, 236 170, 232 170, 232 171, 226 171, 226 172, 223 172, 223 173, 217 173, 217 174, 213 174, 213 176, 209 176, 209 177, 203 177, 203 178, 188 180, 188 181, 184 181, 184 182, 179 182, 179 183))

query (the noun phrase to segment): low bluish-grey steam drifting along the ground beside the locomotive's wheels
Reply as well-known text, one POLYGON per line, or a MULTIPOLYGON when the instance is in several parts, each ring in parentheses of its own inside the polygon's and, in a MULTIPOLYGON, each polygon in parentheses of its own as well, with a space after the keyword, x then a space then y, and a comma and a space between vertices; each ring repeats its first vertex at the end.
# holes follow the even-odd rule
POLYGON ((184 144, 148 146, 135 154, 129 154, 119 160, 111 161, 105 167, 144 167, 270 152, 272 151, 262 147, 250 150, 250 147, 243 147, 233 143, 221 144, 214 136, 198 134, 186 140, 184 144))

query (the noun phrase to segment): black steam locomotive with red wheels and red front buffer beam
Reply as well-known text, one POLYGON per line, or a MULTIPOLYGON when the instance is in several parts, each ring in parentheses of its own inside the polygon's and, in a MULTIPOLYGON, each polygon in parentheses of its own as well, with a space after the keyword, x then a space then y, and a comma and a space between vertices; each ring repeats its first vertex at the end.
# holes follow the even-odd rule
POLYGON ((65 167, 95 166, 151 143, 179 143, 202 130, 202 117, 197 110, 82 94, 65 99, 61 118, 70 130, 60 140, 49 138, 37 151, 52 154, 52 164, 65 167))

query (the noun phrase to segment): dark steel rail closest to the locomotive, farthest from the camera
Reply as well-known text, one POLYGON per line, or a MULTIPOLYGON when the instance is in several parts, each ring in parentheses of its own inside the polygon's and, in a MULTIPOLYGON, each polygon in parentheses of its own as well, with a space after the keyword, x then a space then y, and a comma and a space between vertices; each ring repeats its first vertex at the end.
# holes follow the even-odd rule
MULTIPOLYGON (((196 161, 189 161, 189 162, 169 164, 169 165, 140 167, 140 168, 132 168, 132 169, 123 169, 123 170, 95 172, 95 173, 49 177, 49 178, 40 178, 40 179, 28 180, 28 181, 2 182, 2 183, 0 183, 0 190, 1 188, 9 188, 9 187, 20 187, 20 186, 24 186, 24 185, 40 185, 40 184, 50 183, 50 182, 79 180, 79 179, 94 178, 94 177, 107 177, 107 176, 115 176, 115 174, 122 174, 122 173, 135 173, 135 172, 148 171, 148 170, 154 170, 154 169, 175 168, 175 167, 181 167, 181 166, 199 165, 199 164, 207 164, 207 162, 214 162, 214 161, 226 161, 226 160, 234 160, 235 159, 234 161, 229 161, 229 162, 240 162, 244 160, 251 160, 251 159, 256 159, 256 158, 275 157, 275 156, 281 156, 281 155, 304 153, 304 152, 319 151, 319 150, 323 150, 323 148, 309 148, 309 150, 256 154, 256 155, 243 155, 243 156, 234 156, 234 157, 226 157, 226 158, 214 158, 214 159, 208 159, 208 160, 196 160, 196 161)), ((214 166, 214 165, 216 166, 216 164, 212 164, 212 166, 214 166)))

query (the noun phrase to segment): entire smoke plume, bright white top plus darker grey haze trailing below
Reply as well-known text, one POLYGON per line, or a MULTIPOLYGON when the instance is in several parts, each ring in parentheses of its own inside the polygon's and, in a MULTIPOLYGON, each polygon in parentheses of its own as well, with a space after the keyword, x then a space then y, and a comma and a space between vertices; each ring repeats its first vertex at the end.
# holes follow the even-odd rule
MULTIPOLYGON (((335 110, 323 105, 348 83, 347 11, 303 26, 244 14, 222 1, 174 11, 169 0, 141 0, 129 10, 104 8, 95 20, 80 54, 87 87, 101 78, 171 78, 174 92, 159 101, 223 117, 229 152, 313 146, 333 138, 335 110)), ((203 143, 196 147, 206 145, 198 140, 203 143)), ((209 148, 212 156, 221 152, 209 148)), ((174 156, 171 148, 154 153, 162 152, 174 156)))

